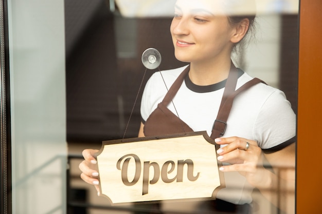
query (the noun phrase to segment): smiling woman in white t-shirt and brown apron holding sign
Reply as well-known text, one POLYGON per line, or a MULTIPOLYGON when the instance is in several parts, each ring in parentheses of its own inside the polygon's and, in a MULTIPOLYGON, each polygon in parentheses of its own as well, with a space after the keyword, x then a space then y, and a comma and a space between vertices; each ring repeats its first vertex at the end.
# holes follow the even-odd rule
MULTIPOLYGON (((207 209, 213 213, 216 210, 249 213, 248 204, 256 187, 273 204, 292 213, 294 197, 284 197, 285 202, 280 203, 267 191, 286 183, 295 186, 294 170, 276 173, 281 166, 295 168, 295 114, 283 92, 263 83, 243 91, 234 99, 224 135, 218 137, 212 133, 231 73, 237 75, 236 89, 253 79, 236 69, 230 60, 231 51, 243 40, 255 18, 227 16, 234 2, 176 2, 170 28, 175 57, 189 66, 151 76, 142 96, 138 137, 206 130, 221 145, 217 153, 218 160, 224 163, 220 170, 225 173, 226 188, 218 192, 216 201, 203 207, 210 207, 207 209), (176 89, 170 88, 175 84, 176 89), (159 104, 168 96, 168 88, 173 94, 171 102, 159 104), (167 116, 163 117, 164 112, 167 116), (171 119, 160 122, 160 118, 171 119), (173 121, 180 125, 173 126, 173 121), (266 165, 272 168, 265 168, 266 165)), ((80 169, 81 178, 98 189, 98 173, 91 169, 91 164, 96 163, 95 152, 83 151, 85 160, 80 169)))

